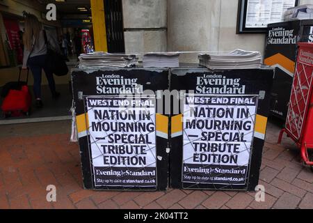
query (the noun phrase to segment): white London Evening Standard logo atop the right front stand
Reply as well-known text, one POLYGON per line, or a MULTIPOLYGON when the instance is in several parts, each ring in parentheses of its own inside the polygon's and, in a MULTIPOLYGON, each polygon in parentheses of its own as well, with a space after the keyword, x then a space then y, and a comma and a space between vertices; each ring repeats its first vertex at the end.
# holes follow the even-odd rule
POLYGON ((203 75, 197 77, 196 93, 206 94, 244 94, 246 85, 240 78, 227 78, 223 75, 203 75))

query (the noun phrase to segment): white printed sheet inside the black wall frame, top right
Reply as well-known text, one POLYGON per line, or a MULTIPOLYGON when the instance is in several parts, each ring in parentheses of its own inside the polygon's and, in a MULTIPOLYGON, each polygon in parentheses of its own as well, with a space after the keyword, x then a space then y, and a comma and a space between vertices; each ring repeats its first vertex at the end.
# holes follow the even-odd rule
POLYGON ((284 12, 296 6, 296 0, 248 0, 246 28, 266 28, 282 22, 284 12))

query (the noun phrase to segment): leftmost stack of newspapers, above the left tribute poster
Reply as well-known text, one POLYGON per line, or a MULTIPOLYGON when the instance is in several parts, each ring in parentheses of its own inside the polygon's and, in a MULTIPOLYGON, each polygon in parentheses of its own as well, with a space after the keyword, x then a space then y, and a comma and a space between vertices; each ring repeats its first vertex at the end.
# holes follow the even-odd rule
POLYGON ((138 63, 135 54, 109 54, 106 52, 93 52, 79 55, 79 68, 131 68, 138 63))

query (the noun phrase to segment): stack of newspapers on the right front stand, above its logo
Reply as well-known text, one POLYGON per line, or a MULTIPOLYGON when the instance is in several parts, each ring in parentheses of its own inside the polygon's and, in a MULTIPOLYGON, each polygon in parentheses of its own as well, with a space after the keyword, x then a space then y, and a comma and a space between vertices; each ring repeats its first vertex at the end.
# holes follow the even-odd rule
POLYGON ((260 52, 235 49, 232 52, 218 54, 199 54, 200 66, 215 69, 255 69, 262 66, 260 52))

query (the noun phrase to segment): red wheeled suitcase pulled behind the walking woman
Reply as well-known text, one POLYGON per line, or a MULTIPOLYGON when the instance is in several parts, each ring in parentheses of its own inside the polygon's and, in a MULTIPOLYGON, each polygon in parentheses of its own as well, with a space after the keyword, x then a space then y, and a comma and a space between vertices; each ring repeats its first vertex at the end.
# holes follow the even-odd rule
MULTIPOLYGON (((19 80, 21 78, 22 68, 19 68, 19 80)), ((4 117, 29 115, 31 112, 31 93, 27 82, 29 79, 29 70, 27 70, 26 84, 21 86, 20 90, 10 89, 6 98, 4 98, 1 109, 4 117)))

